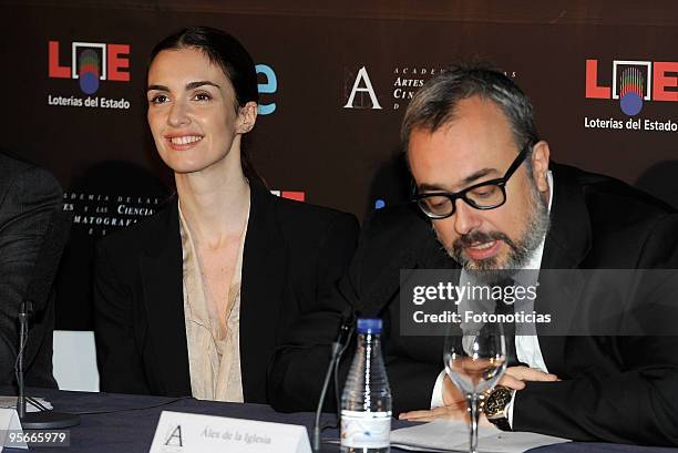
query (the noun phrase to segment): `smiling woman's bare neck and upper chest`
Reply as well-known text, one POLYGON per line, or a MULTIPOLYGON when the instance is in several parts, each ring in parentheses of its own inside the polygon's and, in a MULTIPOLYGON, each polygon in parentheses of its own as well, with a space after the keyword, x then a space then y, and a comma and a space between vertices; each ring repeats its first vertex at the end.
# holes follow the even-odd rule
POLYGON ((202 247, 219 248, 245 228, 249 213, 249 184, 237 166, 218 165, 202 172, 175 174, 182 215, 202 247))

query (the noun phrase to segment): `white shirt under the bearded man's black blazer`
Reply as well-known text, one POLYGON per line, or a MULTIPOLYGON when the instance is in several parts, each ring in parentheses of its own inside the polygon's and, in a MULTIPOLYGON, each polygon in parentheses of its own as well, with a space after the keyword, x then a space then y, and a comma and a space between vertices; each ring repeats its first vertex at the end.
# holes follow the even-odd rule
MULTIPOLYGON (((553 174, 551 171, 546 173, 546 178, 548 179, 548 212, 551 213, 551 205, 553 203, 553 174)), ((523 269, 541 269, 542 268, 542 257, 544 255, 544 243, 546 237, 542 238, 542 243, 534 250, 532 257, 530 258, 530 262, 523 269)), ((462 269, 461 279, 464 279, 464 270, 462 269)), ((546 363, 544 362, 544 357, 542 356, 542 350, 540 348, 540 338, 536 334, 530 336, 515 336, 515 352, 520 362, 527 364, 531 368, 536 368, 537 370, 542 370, 545 373, 548 372, 546 368, 546 363)), ((435 380, 435 385, 433 387, 433 394, 431 395, 431 409, 443 406, 443 379, 445 377, 445 370, 442 370, 435 380)), ((513 403, 515 400, 515 393, 513 399, 508 403, 507 412, 508 412, 508 424, 513 426, 513 403)))

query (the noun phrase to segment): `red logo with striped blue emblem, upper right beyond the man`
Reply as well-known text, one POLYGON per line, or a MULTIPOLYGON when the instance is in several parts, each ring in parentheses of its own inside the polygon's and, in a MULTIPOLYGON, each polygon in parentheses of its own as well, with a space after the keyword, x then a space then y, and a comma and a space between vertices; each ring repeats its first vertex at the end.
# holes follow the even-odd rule
POLYGON ((635 116, 646 101, 678 102, 678 62, 613 61, 612 87, 598 82, 598 60, 586 60, 586 97, 619 100, 622 112, 635 116))

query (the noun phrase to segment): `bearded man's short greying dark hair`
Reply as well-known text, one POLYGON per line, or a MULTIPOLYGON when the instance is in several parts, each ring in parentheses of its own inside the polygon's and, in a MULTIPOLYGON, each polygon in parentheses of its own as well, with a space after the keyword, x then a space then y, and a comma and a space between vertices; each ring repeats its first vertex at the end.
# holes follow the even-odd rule
POLYGON ((431 79, 410 102, 400 130, 403 150, 407 152, 412 130, 435 132, 454 120, 460 101, 475 95, 502 109, 518 152, 540 141, 532 104, 511 78, 486 64, 458 64, 431 79))

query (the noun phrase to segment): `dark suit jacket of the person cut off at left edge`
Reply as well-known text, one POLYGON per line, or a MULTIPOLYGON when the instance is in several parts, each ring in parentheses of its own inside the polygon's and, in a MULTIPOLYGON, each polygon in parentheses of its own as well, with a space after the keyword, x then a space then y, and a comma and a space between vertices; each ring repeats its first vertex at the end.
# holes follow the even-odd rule
MULTIPOLYGON (((18 319, 52 214, 62 192, 49 172, 0 153, 0 384, 14 382, 18 319)), ((27 385, 55 388, 52 375, 53 295, 37 313, 27 344, 27 385)))

